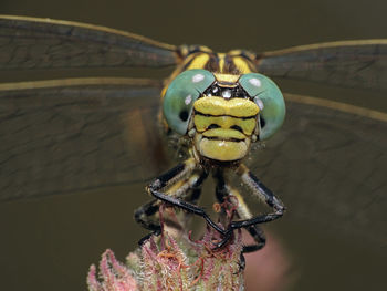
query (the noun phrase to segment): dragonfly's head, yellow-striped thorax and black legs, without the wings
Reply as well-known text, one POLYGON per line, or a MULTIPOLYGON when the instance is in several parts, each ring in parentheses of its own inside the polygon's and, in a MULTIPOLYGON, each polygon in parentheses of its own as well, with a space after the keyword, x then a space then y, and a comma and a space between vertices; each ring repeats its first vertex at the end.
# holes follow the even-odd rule
POLYGON ((224 246, 233 230, 247 228, 257 245, 245 246, 244 251, 258 250, 265 242, 258 225, 281 217, 284 206, 241 162, 251 143, 269 138, 281 127, 285 116, 282 93, 273 81, 255 72, 253 59, 247 52, 219 54, 200 46, 180 50, 184 61, 161 93, 163 116, 170 131, 189 138, 189 158, 148 185, 147 191, 156 200, 139 208, 135 218, 159 233, 160 226, 149 222, 148 217, 158 211, 155 205, 161 200, 205 218, 224 237, 217 247, 224 246), (228 183, 227 172, 240 176, 273 212, 253 216, 239 191, 228 183), (241 220, 232 221, 227 229, 195 202, 209 174, 216 179, 220 202, 230 195, 238 200, 241 220), (165 191, 167 186, 172 186, 172 190, 165 191), (188 195, 192 189, 195 195, 188 195))

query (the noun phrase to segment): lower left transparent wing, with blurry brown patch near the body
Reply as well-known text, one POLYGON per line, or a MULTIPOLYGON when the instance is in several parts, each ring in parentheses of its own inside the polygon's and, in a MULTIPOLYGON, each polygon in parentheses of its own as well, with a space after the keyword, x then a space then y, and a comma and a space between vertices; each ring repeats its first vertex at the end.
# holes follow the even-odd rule
POLYGON ((1 84, 0 200, 156 176, 168 165, 159 92, 159 82, 133 79, 1 84))

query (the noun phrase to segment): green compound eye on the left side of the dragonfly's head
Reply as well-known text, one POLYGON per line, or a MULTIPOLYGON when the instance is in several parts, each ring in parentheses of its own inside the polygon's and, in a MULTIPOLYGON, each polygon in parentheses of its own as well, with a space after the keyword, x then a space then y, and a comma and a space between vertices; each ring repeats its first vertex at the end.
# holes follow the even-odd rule
POLYGON ((163 101, 163 112, 169 127, 178 134, 187 133, 195 101, 215 82, 206 70, 188 70, 168 86, 163 101))

